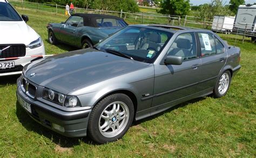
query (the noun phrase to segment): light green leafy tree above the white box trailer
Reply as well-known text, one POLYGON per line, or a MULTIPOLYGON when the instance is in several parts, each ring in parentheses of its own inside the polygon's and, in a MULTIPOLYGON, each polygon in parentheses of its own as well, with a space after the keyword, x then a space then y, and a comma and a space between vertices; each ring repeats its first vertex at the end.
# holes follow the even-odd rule
POLYGON ((200 18, 213 19, 215 15, 231 16, 233 13, 227 6, 222 5, 221 0, 213 0, 212 3, 200 5, 198 11, 200 18))

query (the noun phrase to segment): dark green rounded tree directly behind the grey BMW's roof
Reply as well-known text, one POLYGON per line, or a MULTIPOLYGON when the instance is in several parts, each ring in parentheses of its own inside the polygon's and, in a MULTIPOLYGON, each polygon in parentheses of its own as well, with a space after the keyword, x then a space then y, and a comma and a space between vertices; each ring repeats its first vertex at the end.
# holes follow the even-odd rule
POLYGON ((189 0, 166 0, 160 5, 162 14, 187 15, 190 12, 189 0))

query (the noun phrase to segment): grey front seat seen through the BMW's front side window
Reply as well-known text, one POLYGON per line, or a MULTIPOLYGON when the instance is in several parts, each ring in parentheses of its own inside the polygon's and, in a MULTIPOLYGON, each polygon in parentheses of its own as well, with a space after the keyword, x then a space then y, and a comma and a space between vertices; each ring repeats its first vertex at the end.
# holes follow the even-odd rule
POLYGON ((191 44, 190 40, 179 38, 176 40, 177 48, 174 48, 169 54, 172 56, 189 57, 191 44))

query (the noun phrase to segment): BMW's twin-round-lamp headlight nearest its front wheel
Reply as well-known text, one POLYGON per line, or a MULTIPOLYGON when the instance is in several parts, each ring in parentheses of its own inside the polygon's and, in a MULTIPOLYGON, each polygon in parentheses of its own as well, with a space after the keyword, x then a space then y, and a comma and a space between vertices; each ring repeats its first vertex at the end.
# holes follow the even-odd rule
POLYGON ((66 106, 66 107, 80 107, 80 101, 76 96, 64 95, 56 91, 44 88, 43 98, 52 101, 56 104, 66 106))

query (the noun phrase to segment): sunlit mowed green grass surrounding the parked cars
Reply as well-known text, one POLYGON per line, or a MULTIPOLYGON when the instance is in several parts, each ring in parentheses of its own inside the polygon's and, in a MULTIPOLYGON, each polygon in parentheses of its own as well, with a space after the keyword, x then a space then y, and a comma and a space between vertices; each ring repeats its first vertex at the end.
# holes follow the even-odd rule
MULTIPOLYGON (((46 25, 67 17, 54 13, 21 10, 28 24, 43 38, 47 54, 76 48, 48 43, 46 25)), ((155 156, 256 156, 256 44, 246 38, 221 35, 241 49, 241 70, 232 79, 227 95, 203 97, 134 122, 124 138, 96 145, 90 138, 61 136, 33 121, 18 105, 16 79, 0 78, 0 157, 155 157, 155 156)), ((2 38, 2 37, 1 37, 2 38)))

